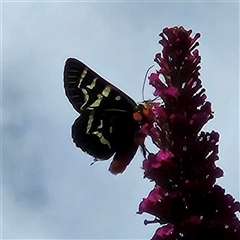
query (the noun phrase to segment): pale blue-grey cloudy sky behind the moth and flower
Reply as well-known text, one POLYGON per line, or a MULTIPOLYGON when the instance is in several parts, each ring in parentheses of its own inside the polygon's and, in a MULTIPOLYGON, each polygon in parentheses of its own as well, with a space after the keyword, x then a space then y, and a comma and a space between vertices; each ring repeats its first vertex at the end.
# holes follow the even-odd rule
POLYGON ((215 112, 205 130, 221 135, 218 183, 240 199, 237 2, 1 1, 3 239, 150 239, 158 225, 136 214, 153 187, 142 155, 119 176, 109 161, 90 166, 70 137, 78 114, 63 67, 78 58, 140 102, 158 34, 176 25, 201 33, 201 79, 215 112))

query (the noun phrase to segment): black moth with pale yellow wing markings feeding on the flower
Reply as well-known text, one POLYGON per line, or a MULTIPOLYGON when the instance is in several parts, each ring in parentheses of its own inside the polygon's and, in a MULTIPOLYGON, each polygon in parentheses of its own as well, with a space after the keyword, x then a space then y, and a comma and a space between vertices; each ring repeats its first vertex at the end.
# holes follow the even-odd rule
POLYGON ((65 63, 64 88, 70 103, 80 114, 72 125, 75 145, 97 160, 113 156, 110 172, 122 173, 144 141, 139 133, 141 107, 74 58, 65 63))

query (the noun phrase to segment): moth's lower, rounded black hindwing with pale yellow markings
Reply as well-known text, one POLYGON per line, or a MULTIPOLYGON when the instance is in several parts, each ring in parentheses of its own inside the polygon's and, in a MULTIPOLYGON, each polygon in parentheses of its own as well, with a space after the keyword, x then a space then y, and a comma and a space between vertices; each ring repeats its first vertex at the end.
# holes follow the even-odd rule
POLYGON ((85 110, 72 126, 72 138, 84 152, 106 160, 114 153, 124 153, 138 128, 131 112, 85 110))

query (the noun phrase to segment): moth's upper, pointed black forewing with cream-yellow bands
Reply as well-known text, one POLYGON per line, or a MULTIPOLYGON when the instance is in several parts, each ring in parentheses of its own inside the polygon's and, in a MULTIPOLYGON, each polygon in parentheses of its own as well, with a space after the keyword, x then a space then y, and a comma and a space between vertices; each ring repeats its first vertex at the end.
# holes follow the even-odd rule
POLYGON ((70 103, 79 113, 101 105, 106 108, 107 106, 100 104, 101 97, 108 98, 110 108, 128 110, 136 107, 132 98, 74 58, 67 59, 65 63, 64 88, 70 103), (111 106, 110 102, 115 103, 111 106))

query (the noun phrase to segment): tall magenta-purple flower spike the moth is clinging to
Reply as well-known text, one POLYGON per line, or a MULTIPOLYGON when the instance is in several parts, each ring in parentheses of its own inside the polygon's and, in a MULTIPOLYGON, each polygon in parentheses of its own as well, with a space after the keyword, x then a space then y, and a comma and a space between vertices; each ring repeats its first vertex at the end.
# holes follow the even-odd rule
POLYGON ((238 240, 240 204, 216 184, 223 176, 215 164, 219 134, 202 131, 213 113, 199 78, 200 34, 191 33, 183 27, 160 33, 163 50, 155 57, 160 69, 149 82, 162 101, 146 104, 147 120, 141 127, 159 149, 142 166, 155 187, 138 213, 154 216, 146 224, 161 224, 154 240, 238 240))

